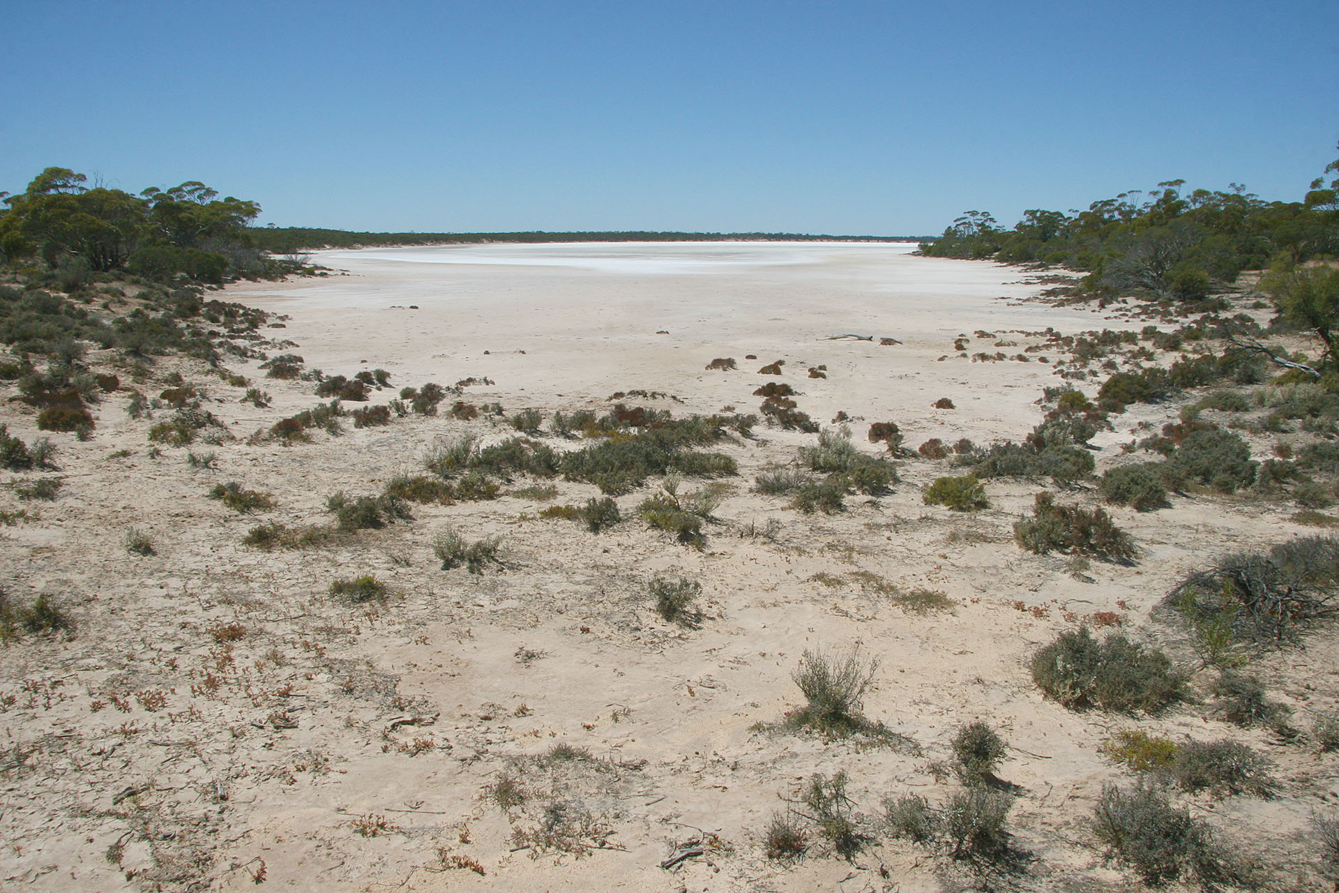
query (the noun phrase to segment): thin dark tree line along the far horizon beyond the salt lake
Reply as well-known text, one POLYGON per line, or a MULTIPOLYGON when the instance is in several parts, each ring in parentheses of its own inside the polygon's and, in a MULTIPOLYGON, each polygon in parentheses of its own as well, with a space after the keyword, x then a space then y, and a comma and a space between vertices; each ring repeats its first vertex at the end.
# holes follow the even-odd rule
POLYGON ((588 233, 358 233, 311 226, 266 226, 254 229, 260 248, 272 254, 293 254, 324 248, 375 248, 386 245, 467 245, 489 242, 912 242, 917 236, 813 236, 807 233, 653 233, 647 230, 601 230, 588 233))

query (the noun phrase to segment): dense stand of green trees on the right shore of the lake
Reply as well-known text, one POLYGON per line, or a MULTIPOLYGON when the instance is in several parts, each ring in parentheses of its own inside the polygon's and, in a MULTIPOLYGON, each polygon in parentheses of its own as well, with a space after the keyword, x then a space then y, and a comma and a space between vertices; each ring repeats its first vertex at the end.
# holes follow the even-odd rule
MULTIPOLYGON (((1339 173, 1339 161, 1326 167, 1339 173)), ((1197 300, 1245 269, 1285 272, 1339 256, 1339 177, 1320 177, 1296 202, 1158 183, 1093 202, 1087 210, 1028 210, 1012 229, 967 212, 933 241, 928 257, 992 258, 1086 272, 1079 292, 1197 300)))

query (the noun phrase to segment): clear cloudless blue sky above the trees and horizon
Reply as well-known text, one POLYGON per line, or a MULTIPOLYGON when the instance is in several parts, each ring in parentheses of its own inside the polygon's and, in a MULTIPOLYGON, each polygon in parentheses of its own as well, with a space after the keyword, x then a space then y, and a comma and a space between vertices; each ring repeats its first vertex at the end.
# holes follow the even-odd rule
POLYGON ((367 230, 937 233, 1299 199, 1339 3, 0 0, 0 190, 200 179, 367 230))

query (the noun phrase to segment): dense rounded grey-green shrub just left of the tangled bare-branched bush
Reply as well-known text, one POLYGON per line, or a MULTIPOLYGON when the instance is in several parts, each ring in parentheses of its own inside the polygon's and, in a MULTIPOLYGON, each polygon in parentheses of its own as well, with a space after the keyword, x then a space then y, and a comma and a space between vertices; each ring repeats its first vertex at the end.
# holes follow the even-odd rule
POLYGON ((1031 671, 1038 687, 1070 710, 1154 714, 1185 692, 1185 676, 1161 651, 1119 633, 1097 641, 1086 627, 1038 649, 1031 671))

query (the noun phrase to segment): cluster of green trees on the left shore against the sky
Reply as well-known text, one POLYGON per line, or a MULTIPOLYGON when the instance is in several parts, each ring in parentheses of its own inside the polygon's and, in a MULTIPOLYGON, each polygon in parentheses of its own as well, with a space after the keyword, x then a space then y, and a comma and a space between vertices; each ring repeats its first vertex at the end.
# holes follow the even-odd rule
POLYGON ((197 282, 276 272, 252 237, 253 201, 218 198, 198 181, 138 195, 87 182, 47 167, 23 193, 0 193, 0 261, 197 282))

